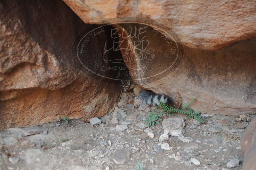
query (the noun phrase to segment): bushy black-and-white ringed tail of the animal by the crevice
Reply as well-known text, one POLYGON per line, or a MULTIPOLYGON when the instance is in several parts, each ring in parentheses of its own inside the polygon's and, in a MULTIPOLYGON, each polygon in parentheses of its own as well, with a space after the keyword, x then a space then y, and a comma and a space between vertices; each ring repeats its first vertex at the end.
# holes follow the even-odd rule
POLYGON ((141 90, 139 94, 139 98, 142 101, 142 103, 157 106, 159 105, 159 101, 163 102, 167 105, 174 105, 174 99, 167 95, 156 95, 155 93, 148 91, 148 90, 141 90))

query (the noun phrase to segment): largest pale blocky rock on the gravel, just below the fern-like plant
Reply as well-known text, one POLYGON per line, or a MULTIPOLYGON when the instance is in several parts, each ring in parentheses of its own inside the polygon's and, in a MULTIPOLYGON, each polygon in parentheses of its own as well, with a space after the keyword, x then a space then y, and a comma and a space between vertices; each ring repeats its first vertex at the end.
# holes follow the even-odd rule
POLYGON ((172 131, 179 129, 180 127, 184 128, 185 122, 181 117, 171 117, 164 119, 162 125, 164 128, 164 133, 168 133, 170 136, 172 131))

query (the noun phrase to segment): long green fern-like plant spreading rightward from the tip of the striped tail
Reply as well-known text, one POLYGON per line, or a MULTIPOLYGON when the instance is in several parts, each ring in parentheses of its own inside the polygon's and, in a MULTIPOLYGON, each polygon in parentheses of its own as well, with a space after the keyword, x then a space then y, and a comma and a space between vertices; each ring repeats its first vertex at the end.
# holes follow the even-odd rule
POLYGON ((196 99, 196 97, 192 98, 192 100, 190 102, 188 102, 187 104, 185 104, 182 109, 178 109, 178 108, 174 108, 172 106, 169 106, 163 102, 160 102, 160 106, 163 108, 163 111, 165 113, 182 113, 187 115, 188 117, 194 118, 196 119, 198 122, 200 123, 204 123, 204 120, 202 117, 200 117, 201 111, 197 111, 195 112, 195 110, 188 108, 188 106, 194 102, 194 100, 196 99))

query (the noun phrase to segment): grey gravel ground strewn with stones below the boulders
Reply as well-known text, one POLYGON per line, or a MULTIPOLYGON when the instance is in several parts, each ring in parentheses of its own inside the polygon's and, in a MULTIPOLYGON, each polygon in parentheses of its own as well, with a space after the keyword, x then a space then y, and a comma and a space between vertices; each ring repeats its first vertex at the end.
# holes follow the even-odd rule
POLYGON ((152 170, 242 169, 240 136, 248 117, 237 121, 236 117, 206 115, 200 124, 181 114, 163 115, 164 127, 177 129, 179 123, 167 120, 184 120, 184 131, 181 122, 177 137, 166 136, 162 124, 147 128, 143 120, 152 109, 123 93, 115 110, 99 117, 98 125, 69 120, 68 125, 57 121, 0 131, 0 169, 123 170, 136 169, 137 161, 152 170))

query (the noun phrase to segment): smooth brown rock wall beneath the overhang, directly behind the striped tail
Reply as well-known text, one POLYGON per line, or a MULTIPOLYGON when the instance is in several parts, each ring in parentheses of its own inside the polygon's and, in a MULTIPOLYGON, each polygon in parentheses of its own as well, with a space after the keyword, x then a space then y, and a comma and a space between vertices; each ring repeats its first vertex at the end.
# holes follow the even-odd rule
MULTIPOLYGON (((123 37, 128 37, 132 24, 114 26, 120 35, 124 32, 123 37)), ((217 51, 206 51, 187 46, 183 49, 174 41, 170 46, 160 32, 156 33, 150 27, 145 27, 143 32, 140 35, 143 46, 134 45, 139 36, 123 39, 121 36, 120 40, 125 43, 120 48, 132 78, 144 89, 172 97, 179 92, 183 104, 197 96, 191 107, 203 113, 256 113, 256 39, 244 40, 217 51), (129 51, 132 53, 127 54, 129 51)))

